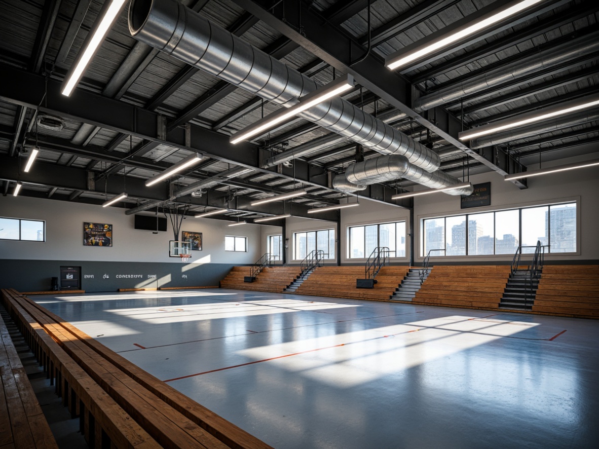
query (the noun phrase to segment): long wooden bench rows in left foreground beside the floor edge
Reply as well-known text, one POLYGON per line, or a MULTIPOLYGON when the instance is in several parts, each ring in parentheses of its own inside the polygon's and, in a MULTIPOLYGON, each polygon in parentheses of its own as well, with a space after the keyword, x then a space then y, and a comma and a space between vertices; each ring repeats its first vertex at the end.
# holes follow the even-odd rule
POLYGON ((2 297, 96 447, 270 448, 26 296, 2 297))

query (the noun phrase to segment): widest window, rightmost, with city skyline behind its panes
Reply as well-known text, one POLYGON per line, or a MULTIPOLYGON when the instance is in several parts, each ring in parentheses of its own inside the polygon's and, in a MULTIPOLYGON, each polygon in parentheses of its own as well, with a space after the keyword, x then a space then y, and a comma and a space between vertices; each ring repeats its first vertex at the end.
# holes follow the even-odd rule
POLYGON ((537 241, 548 253, 575 253, 576 203, 422 220, 423 256, 514 254, 519 245, 534 253, 537 241))

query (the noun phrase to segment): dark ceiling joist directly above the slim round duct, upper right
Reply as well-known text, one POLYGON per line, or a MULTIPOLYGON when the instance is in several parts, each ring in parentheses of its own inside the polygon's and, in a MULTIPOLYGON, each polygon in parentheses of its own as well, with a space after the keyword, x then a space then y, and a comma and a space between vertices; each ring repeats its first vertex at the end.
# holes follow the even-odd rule
MULTIPOLYGON (((592 7, 591 10, 597 10, 597 7, 592 7)), ((413 77, 410 77, 410 79, 412 80, 413 84, 423 83, 426 80, 443 75, 461 66, 467 65, 468 63, 474 62, 475 60, 490 56, 498 51, 513 47, 514 45, 521 44, 524 41, 530 40, 531 38, 544 34, 552 29, 559 28, 559 26, 565 25, 573 20, 588 16, 588 14, 591 12, 592 11, 589 11, 588 5, 582 5, 574 10, 567 11, 565 14, 559 14, 558 16, 552 17, 548 20, 542 20, 540 23, 535 24, 534 26, 529 26, 521 31, 512 33, 506 38, 498 39, 491 44, 483 45, 480 48, 467 51, 461 56, 454 57, 447 62, 440 63, 428 70, 419 72, 413 77)))

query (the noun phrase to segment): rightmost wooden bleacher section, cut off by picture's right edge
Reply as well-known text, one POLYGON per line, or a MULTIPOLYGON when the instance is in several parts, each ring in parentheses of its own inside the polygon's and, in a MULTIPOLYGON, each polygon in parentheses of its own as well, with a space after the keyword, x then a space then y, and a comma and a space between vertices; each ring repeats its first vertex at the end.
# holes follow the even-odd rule
POLYGON ((545 265, 533 312, 599 317, 599 265, 545 265))

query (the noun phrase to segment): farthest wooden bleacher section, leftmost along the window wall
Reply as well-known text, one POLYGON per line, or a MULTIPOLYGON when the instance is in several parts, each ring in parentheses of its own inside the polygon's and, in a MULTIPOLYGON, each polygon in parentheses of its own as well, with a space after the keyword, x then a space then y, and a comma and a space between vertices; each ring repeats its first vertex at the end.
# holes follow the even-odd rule
POLYGON ((283 292, 301 274, 299 266, 267 266, 256 276, 253 282, 244 282, 252 267, 234 266, 229 274, 220 281, 223 289, 256 290, 259 292, 283 292))

